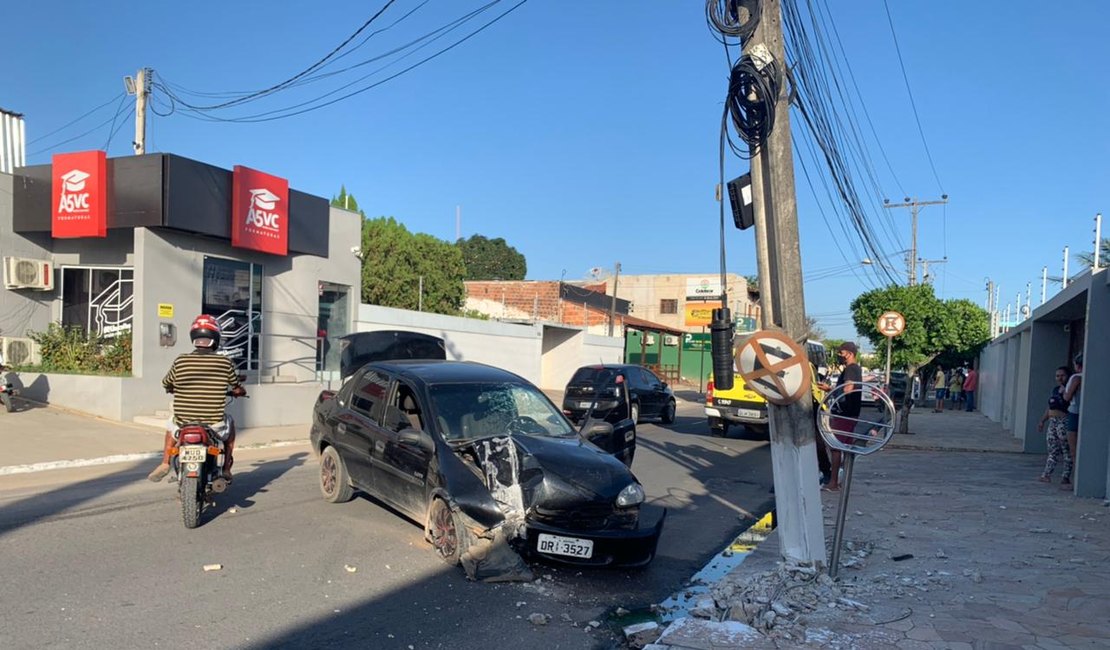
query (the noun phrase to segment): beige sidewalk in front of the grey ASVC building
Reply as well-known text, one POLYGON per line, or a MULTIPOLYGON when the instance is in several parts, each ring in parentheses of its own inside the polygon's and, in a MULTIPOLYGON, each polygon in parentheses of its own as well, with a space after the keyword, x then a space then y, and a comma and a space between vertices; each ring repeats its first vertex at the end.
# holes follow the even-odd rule
MULTIPOLYGON (((163 430, 21 400, 16 413, 0 412, 0 476, 155 458, 163 430)), ((307 425, 245 428, 235 448, 307 440, 307 425)))

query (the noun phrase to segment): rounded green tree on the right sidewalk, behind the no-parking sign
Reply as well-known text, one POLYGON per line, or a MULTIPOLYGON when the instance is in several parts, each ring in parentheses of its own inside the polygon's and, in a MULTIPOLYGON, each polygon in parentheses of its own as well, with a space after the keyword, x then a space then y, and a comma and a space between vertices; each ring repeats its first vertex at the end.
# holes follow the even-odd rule
MULTIPOLYGON (((990 339, 987 313, 971 301, 940 301, 928 284, 892 285, 861 294, 851 303, 857 332, 870 339, 884 363, 887 338, 878 332, 876 323, 886 311, 906 317, 906 329, 891 341, 891 366, 905 368, 909 377, 941 355, 972 358, 990 339)), ((911 390, 906 392, 901 404, 898 422, 901 434, 909 430, 910 394, 911 390)))

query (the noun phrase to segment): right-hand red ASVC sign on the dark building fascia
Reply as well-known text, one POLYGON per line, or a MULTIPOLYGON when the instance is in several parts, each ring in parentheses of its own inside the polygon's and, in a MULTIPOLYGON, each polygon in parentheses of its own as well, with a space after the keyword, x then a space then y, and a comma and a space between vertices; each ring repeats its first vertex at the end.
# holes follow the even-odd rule
POLYGON ((231 245, 273 255, 289 253, 289 181, 235 165, 231 245))

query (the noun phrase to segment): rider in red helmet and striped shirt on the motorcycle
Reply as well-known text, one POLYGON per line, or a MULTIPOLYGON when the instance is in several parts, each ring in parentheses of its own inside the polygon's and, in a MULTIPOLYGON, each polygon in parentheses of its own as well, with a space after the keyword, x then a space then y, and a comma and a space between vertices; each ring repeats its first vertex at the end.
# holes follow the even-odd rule
POLYGON ((235 397, 246 394, 235 372, 234 364, 216 354, 220 347, 220 325, 206 314, 196 316, 189 328, 194 349, 178 355, 170 372, 162 379, 167 393, 173 393, 173 419, 165 431, 162 463, 147 477, 158 483, 170 473, 170 456, 176 446, 178 427, 184 424, 204 424, 228 427, 224 441, 223 478, 231 483, 232 453, 235 448, 235 423, 225 413, 228 388, 235 397))

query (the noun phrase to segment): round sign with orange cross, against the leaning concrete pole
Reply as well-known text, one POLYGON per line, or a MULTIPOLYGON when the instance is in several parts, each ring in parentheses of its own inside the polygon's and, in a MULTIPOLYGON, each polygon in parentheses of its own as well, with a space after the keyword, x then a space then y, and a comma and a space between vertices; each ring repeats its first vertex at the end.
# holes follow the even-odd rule
POLYGON ((736 353, 736 367, 747 387, 771 404, 786 406, 810 394, 809 358, 781 332, 763 329, 749 336, 736 353))

